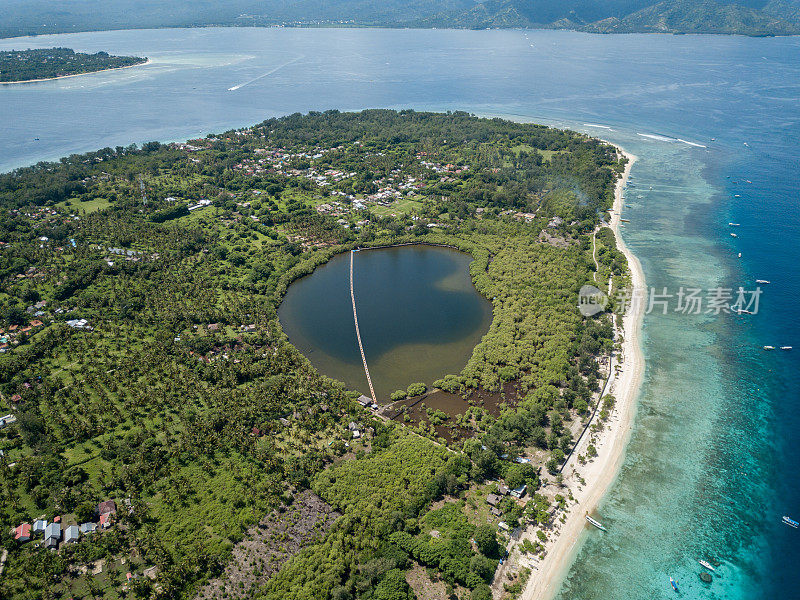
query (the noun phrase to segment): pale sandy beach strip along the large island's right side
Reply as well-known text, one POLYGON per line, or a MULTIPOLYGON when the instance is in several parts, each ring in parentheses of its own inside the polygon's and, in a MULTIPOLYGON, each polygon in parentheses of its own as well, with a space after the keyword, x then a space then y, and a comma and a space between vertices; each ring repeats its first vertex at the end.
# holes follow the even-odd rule
MULTIPOLYGON (((633 289, 644 289, 644 272, 641 264, 619 235, 620 215, 624 204, 623 190, 637 157, 625 152, 616 144, 614 146, 628 159, 628 164, 625 165, 622 177, 617 181, 610 227, 616 236, 617 248, 628 261, 633 289)), ((581 533, 588 527, 585 515, 597 508, 617 478, 630 438, 631 423, 636 414, 636 399, 644 374, 644 354, 639 344, 643 308, 643 303, 632 302, 631 310, 623 317, 622 361, 620 362, 620 356, 615 356, 609 366, 612 376, 609 389, 606 390, 606 393, 615 396, 616 404, 603 431, 598 435, 599 439, 595 444, 597 457, 585 465, 576 466, 575 462, 570 462, 563 470, 566 487, 561 493, 571 492, 576 502, 569 505, 563 525, 556 520, 554 529, 548 532, 545 558, 541 561, 536 559, 531 561, 531 577, 522 593, 523 600, 551 600, 555 596, 576 556, 581 533), (617 366, 621 368, 614 375, 617 366), (580 485, 577 475, 584 478, 585 485, 580 485)), ((573 455, 579 454, 588 446, 589 437, 586 436, 580 441, 580 448, 576 448, 573 455)), ((533 526, 527 527, 517 539, 521 541, 527 537, 536 541, 535 529, 533 526)))

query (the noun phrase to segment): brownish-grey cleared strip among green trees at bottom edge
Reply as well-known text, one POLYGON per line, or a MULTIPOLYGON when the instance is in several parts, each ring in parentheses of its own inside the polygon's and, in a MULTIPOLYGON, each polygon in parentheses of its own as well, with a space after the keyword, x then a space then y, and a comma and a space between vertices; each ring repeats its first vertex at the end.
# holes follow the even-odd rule
POLYGON ((310 491, 272 511, 236 544, 224 573, 209 581, 197 600, 252 598, 259 586, 300 548, 322 538, 341 515, 310 491))

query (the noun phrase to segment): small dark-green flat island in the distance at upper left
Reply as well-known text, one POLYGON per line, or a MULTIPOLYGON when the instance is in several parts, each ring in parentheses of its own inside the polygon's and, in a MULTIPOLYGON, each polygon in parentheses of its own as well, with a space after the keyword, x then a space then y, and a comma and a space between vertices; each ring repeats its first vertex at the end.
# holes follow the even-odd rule
POLYGON ((58 79, 132 67, 147 62, 139 56, 112 56, 108 52, 85 54, 71 48, 0 51, 0 83, 58 79))

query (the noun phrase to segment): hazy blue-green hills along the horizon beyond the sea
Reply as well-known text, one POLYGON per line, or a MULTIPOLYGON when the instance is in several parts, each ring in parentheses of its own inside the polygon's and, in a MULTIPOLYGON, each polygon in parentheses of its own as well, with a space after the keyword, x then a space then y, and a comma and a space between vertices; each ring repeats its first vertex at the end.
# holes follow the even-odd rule
POLYGON ((209 25, 800 34, 800 0, 0 0, 0 10, 0 37, 209 25))

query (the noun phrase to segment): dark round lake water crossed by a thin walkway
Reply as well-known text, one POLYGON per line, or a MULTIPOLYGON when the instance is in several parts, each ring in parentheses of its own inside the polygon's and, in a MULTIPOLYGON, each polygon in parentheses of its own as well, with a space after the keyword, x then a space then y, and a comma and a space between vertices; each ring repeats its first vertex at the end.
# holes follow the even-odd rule
MULTIPOLYGON (((492 319, 491 304, 472 285, 471 261, 431 246, 355 253, 358 325, 379 401, 466 365, 492 319)), ((294 282, 278 316, 315 367, 369 396, 353 324, 349 253, 294 282)))

